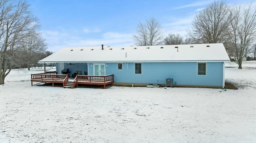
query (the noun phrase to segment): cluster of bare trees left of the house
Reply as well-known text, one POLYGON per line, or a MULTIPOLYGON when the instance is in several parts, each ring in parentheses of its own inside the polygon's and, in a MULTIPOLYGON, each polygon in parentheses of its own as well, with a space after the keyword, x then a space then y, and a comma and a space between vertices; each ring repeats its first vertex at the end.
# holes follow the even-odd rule
POLYGON ((30 70, 51 54, 29 6, 25 0, 0 0, 0 84, 12 69, 30 70))

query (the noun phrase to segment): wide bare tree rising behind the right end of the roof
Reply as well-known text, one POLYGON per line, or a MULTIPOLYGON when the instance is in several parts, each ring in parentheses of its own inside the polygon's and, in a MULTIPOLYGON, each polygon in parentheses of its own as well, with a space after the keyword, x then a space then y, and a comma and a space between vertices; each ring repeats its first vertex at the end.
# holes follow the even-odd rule
POLYGON ((214 1, 200 11, 192 21, 192 30, 188 30, 192 43, 226 43, 227 13, 224 1, 214 1))

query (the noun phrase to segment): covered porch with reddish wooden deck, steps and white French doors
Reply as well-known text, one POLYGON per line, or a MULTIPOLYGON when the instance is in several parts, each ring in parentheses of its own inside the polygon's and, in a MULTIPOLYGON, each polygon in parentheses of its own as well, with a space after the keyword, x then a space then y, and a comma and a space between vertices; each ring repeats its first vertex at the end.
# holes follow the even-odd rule
POLYGON ((59 83, 64 88, 75 88, 78 84, 103 85, 106 88, 106 85, 114 83, 114 74, 111 72, 106 74, 108 65, 105 63, 66 59, 60 62, 50 60, 42 64, 44 64, 44 73, 31 74, 31 86, 35 85, 33 82, 39 82, 52 83, 52 86, 54 83, 59 83), (46 63, 56 63, 56 71, 46 71, 46 63))

